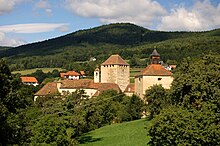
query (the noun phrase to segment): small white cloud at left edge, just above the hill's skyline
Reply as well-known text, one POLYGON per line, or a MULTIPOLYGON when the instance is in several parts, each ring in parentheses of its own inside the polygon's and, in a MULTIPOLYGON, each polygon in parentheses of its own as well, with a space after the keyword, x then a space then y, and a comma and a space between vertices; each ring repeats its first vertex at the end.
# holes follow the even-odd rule
POLYGON ((0 32, 0 44, 1 46, 20 46, 25 44, 26 42, 22 39, 18 38, 9 38, 5 35, 5 33, 0 32))

